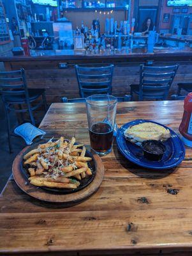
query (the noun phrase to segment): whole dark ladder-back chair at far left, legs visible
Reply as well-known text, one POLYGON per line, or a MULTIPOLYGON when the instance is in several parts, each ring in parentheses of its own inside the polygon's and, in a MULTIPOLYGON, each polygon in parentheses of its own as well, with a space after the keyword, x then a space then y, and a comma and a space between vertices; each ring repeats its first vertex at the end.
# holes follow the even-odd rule
POLYGON ((45 89, 28 89, 26 83, 26 75, 24 68, 10 72, 0 72, 0 96, 6 113, 8 143, 11 152, 11 130, 10 130, 10 111, 16 113, 28 112, 31 124, 35 125, 33 111, 41 105, 45 106, 47 111, 47 102, 45 99, 45 89), (36 99, 41 97, 40 102, 36 103, 36 99), (33 105, 31 104, 33 103, 33 105), (15 108, 18 106, 18 108, 15 108), (24 107, 24 108, 22 108, 24 107))

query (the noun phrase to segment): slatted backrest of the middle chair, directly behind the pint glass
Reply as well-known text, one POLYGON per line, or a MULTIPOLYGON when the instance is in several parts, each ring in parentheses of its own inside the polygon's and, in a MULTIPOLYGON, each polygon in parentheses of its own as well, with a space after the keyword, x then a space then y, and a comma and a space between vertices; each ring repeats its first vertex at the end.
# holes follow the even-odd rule
POLYGON ((112 94, 114 65, 82 67, 75 65, 80 97, 93 94, 112 94))

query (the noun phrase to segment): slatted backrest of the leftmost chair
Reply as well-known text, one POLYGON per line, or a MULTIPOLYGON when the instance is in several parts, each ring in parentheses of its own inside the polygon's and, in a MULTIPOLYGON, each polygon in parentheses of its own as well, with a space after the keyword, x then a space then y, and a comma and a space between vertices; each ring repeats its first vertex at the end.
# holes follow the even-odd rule
POLYGON ((0 93, 6 96, 28 97, 24 68, 10 72, 0 72, 0 93))

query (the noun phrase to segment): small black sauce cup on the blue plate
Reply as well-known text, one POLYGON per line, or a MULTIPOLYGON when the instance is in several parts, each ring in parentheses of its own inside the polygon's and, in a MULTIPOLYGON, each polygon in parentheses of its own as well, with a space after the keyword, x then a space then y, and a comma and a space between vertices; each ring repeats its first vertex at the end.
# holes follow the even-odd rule
POLYGON ((160 161, 163 157, 163 154, 165 153, 165 145, 161 142, 161 141, 157 141, 157 140, 145 140, 142 142, 142 148, 143 148, 143 153, 144 153, 144 157, 148 160, 151 161, 160 161), (154 150, 150 150, 149 148, 149 144, 152 144, 153 146, 157 145, 157 147, 161 148, 162 153, 158 154, 156 152, 154 152, 154 150))

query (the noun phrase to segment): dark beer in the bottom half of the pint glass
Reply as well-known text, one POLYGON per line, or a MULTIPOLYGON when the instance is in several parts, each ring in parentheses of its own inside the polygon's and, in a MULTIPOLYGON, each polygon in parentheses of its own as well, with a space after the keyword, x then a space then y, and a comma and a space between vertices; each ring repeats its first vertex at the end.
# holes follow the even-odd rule
POLYGON ((112 147, 114 130, 110 124, 98 122, 89 129, 91 147, 97 152, 107 152, 112 147))

